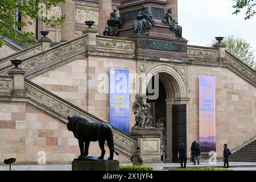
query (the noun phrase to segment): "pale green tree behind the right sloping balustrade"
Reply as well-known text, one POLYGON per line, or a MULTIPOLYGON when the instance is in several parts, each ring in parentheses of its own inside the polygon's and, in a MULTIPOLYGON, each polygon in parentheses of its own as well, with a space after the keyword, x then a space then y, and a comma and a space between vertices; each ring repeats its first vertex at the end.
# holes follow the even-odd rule
MULTIPOLYGON (((213 40, 210 46, 216 44, 217 41, 213 40)), ((256 61, 254 56, 253 48, 249 42, 246 40, 234 37, 233 35, 225 36, 223 43, 226 44, 226 50, 232 55, 236 56, 243 63, 247 64, 249 67, 256 71, 256 61)))

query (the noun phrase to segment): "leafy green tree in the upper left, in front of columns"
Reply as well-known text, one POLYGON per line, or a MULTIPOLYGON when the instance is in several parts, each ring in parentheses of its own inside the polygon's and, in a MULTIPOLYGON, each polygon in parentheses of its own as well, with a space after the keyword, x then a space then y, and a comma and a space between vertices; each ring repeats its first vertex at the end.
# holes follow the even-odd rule
POLYGON ((20 16, 30 16, 32 20, 41 18, 44 23, 49 24, 51 27, 56 27, 62 23, 65 16, 61 17, 45 17, 47 11, 51 6, 57 6, 59 3, 65 2, 65 0, 0 0, 0 47, 3 46, 1 37, 5 37, 11 40, 16 40, 20 44, 33 44, 36 43, 33 32, 18 32, 15 30, 15 26, 22 28, 32 22, 21 22, 17 19, 17 14, 20 16), (43 2, 42 2, 43 1, 43 2))

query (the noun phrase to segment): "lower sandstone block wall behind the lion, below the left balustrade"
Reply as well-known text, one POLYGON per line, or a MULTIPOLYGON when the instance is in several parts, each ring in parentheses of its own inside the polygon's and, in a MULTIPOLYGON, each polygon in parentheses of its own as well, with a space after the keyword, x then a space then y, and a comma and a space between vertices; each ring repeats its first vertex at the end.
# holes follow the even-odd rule
MULTIPOLYGON (((1 103, 0 110, 0 164, 7 158, 16 158, 16 164, 37 164, 39 151, 46 152, 47 164, 69 164, 80 155, 77 139, 65 123, 24 104, 1 103)), ((92 142, 89 155, 100 152, 98 143, 92 142)), ((121 154, 114 158, 127 160, 121 154)))

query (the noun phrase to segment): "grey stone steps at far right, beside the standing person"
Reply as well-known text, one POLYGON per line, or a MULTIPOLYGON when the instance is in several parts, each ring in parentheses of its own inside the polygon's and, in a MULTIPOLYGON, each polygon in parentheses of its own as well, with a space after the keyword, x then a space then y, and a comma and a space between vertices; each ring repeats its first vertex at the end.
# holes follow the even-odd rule
POLYGON ((229 156, 232 162, 256 162, 256 140, 229 156))

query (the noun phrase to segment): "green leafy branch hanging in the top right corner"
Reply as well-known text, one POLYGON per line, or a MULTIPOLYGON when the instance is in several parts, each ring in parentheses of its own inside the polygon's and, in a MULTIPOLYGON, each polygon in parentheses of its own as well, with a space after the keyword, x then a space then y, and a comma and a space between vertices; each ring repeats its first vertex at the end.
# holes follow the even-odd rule
POLYGON ((254 6, 256 5, 255 0, 233 0, 236 2, 236 5, 233 5, 233 8, 236 9, 233 14, 241 13, 242 9, 245 10, 245 19, 250 19, 256 12, 254 6))

